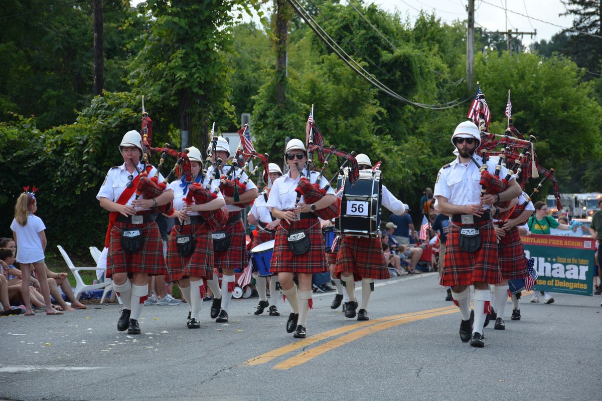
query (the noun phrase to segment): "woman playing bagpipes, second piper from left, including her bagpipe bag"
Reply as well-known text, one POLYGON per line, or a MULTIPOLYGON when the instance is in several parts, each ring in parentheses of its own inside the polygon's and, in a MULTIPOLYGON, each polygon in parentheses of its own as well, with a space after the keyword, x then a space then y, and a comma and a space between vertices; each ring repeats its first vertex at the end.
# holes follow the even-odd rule
POLYGON ((207 185, 208 180, 201 171, 200 150, 194 146, 187 150, 187 154, 180 155, 185 159, 181 164, 182 178, 169 184, 174 209, 170 217, 176 218, 176 224, 167 243, 167 281, 178 281, 190 308, 187 326, 198 329, 203 280, 215 274, 211 233, 225 221, 226 212, 220 208, 226 201, 217 190, 216 180, 207 185))

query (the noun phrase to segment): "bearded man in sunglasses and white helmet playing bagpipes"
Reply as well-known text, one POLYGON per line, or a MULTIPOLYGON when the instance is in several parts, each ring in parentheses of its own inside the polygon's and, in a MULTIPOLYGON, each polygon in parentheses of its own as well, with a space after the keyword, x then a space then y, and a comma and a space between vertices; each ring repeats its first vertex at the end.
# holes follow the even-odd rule
MULTIPOLYGON (((482 186, 480 182, 492 182, 486 182, 484 178, 495 173, 496 165, 492 161, 485 162, 483 173, 479 171, 483 161, 474 155, 474 151, 480 143, 480 132, 474 123, 464 121, 458 124, 452 135, 452 144, 458 148, 458 158, 439 170, 434 191, 438 210, 450 215, 452 221, 445 244, 445 269, 439 284, 452 287, 452 297, 462 314, 460 338, 463 342, 470 341, 475 347, 485 345, 483 325, 491 306, 488 284, 502 280, 491 205, 497 201, 512 200, 521 193, 520 186, 512 177, 503 191, 497 194, 486 192, 488 185, 482 186), (474 286, 474 324, 470 310, 470 285, 474 286)), ((506 175, 506 168, 500 167, 500 176, 506 175)))

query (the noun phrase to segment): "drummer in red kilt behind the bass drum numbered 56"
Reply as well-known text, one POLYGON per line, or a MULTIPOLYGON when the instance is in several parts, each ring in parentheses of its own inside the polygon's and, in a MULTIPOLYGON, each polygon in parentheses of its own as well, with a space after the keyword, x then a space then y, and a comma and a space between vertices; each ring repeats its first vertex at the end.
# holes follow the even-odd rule
MULTIPOLYGON (((355 157, 358 161, 359 170, 369 170, 372 162, 364 153, 355 157)), ((391 210, 396 215, 405 213, 405 206, 391 194, 391 191, 382 186, 380 193, 382 206, 391 210)), ((362 305, 358 311, 358 320, 370 320, 368 317, 368 302, 374 290, 374 279, 385 279, 391 277, 386 267, 385 256, 380 244, 380 236, 374 238, 355 237, 344 235, 340 238, 340 248, 337 254, 337 277, 349 296, 349 302, 343 306, 345 317, 356 316, 358 301, 355 298, 354 281, 362 281, 362 305)))

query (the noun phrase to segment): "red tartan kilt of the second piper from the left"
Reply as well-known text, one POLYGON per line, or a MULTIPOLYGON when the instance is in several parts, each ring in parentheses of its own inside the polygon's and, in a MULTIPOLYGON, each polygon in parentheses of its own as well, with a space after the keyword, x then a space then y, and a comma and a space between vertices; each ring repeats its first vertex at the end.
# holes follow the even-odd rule
POLYGON ((167 242, 167 277, 166 281, 176 281, 187 277, 213 277, 213 240, 211 230, 206 223, 187 224, 180 230, 176 224, 167 242), (177 235, 193 234, 194 252, 183 257, 176 245, 177 235))

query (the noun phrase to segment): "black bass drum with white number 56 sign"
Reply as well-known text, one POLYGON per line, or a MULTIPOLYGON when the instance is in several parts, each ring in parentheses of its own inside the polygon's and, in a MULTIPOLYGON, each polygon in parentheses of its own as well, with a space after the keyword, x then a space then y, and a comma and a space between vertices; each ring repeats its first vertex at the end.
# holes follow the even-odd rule
POLYGON ((351 185, 345 171, 341 215, 337 218, 337 234, 357 237, 380 237, 380 203, 382 171, 360 170, 359 179, 351 185))

